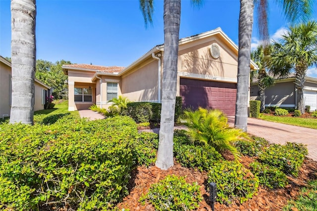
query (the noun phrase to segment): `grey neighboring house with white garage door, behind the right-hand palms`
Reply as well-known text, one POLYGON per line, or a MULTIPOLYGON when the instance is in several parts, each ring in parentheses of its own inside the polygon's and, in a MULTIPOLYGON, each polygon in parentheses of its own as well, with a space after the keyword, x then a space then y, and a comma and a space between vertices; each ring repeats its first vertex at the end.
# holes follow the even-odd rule
MULTIPOLYGON (((317 109, 317 78, 305 78, 304 105, 311 106, 313 111, 317 109)), ((296 108, 297 91, 294 82, 294 74, 276 79, 274 86, 265 89, 265 106, 296 108)), ((251 84, 250 96, 251 100, 258 100, 259 88, 257 82, 251 84)))

